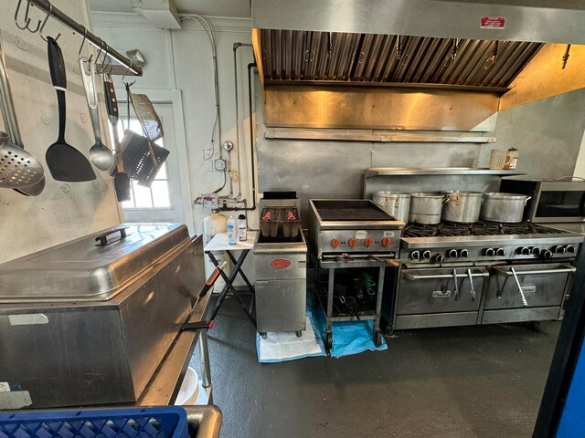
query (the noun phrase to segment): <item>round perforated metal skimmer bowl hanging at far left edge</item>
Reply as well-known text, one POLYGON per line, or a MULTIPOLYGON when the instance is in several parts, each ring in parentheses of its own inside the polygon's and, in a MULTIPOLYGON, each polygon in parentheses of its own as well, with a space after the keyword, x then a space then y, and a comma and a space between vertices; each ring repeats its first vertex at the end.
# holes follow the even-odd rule
POLYGON ((0 187, 22 189, 40 182, 44 176, 42 164, 0 131, 0 187))

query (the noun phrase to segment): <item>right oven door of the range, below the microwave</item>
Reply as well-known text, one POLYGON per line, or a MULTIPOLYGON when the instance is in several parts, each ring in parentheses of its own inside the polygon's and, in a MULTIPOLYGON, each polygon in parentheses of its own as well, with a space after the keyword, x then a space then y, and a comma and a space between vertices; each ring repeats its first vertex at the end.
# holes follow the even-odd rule
POLYGON ((482 324, 562 318, 575 267, 567 264, 494 266, 482 324))

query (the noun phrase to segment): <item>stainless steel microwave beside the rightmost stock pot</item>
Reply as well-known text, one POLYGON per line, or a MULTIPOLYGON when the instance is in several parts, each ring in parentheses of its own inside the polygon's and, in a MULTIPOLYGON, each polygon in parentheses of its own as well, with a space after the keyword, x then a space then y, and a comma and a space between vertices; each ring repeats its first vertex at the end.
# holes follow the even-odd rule
POLYGON ((524 220, 585 222, 585 181, 502 180, 500 192, 530 196, 524 220))

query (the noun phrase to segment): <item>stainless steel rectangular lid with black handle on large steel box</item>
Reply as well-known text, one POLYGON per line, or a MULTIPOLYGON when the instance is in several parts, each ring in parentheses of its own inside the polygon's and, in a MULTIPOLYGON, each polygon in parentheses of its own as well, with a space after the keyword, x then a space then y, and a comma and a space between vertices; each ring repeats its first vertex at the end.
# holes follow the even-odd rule
MULTIPOLYGON (((119 228, 121 225, 114 228, 119 228)), ((190 240, 185 224, 125 224, 126 237, 80 237, 0 265, 0 302, 104 301, 176 246, 190 240)))

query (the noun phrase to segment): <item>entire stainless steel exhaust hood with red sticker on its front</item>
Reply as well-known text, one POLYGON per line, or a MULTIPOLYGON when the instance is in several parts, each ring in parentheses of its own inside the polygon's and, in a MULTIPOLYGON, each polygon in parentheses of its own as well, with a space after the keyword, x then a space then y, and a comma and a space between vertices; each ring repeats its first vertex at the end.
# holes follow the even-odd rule
POLYGON ((251 12, 273 128, 495 130, 501 95, 545 42, 585 43, 580 0, 251 0, 251 12))

